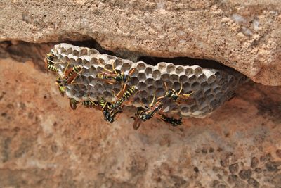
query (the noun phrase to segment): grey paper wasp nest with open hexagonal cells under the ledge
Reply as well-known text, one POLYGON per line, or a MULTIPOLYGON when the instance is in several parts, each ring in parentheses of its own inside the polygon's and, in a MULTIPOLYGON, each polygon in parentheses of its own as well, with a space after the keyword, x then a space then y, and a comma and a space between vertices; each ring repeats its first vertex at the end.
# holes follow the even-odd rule
POLYGON ((131 68, 136 70, 131 75, 129 84, 136 85, 139 92, 133 96, 133 106, 148 106, 156 94, 156 97, 163 96, 166 88, 178 90, 183 84, 181 94, 193 92, 188 103, 171 103, 164 112, 180 113, 183 116, 203 118, 224 101, 233 96, 235 89, 247 80, 247 77, 235 70, 216 70, 213 68, 201 68, 198 65, 174 65, 172 63, 158 63, 148 65, 143 61, 132 62, 126 59, 100 54, 96 49, 73 46, 70 44, 58 44, 52 49, 53 54, 58 58, 55 61, 62 61, 55 65, 63 72, 67 63, 70 66, 83 65, 83 70, 74 81, 74 84, 67 86, 66 95, 77 101, 92 100, 97 96, 103 96, 107 101, 114 100, 115 93, 119 92, 121 84, 107 84, 103 80, 97 80, 96 75, 103 70, 103 67, 112 70, 112 63, 115 69, 120 72, 129 73, 131 68))

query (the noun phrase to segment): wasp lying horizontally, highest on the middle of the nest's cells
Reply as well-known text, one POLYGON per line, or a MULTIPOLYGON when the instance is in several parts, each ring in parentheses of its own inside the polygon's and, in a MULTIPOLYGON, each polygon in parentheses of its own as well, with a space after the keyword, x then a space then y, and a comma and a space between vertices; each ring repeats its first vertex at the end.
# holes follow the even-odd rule
POLYGON ((124 74, 124 72, 118 73, 117 70, 115 70, 114 62, 112 63, 113 71, 108 70, 105 67, 103 69, 106 70, 107 73, 105 73, 105 72, 98 73, 96 75, 96 77, 98 77, 98 79, 100 79, 100 80, 105 80, 105 82, 107 82, 108 84, 114 84, 116 82, 126 84, 127 82, 129 82, 129 80, 131 79, 131 75, 136 70, 136 68, 132 68, 131 70, 129 70, 128 75, 124 74))

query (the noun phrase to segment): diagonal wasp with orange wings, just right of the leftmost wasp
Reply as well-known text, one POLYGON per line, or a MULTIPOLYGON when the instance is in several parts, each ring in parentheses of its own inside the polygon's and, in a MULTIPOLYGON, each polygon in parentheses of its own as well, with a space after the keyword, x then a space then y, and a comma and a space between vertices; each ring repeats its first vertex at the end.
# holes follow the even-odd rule
POLYGON ((82 68, 83 67, 81 65, 77 65, 69 69, 65 68, 63 78, 61 78, 60 75, 58 76, 56 84, 58 85, 58 90, 61 96, 64 96, 65 94, 65 86, 74 82, 75 78, 77 77, 78 73, 81 72, 82 68))

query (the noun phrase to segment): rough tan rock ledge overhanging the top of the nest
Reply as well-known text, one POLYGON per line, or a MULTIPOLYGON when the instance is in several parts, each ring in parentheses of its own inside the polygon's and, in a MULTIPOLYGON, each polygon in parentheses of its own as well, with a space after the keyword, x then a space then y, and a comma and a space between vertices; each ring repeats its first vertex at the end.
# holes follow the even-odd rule
POLYGON ((212 59, 281 84, 281 1, 0 2, 0 40, 96 39, 116 54, 212 59))

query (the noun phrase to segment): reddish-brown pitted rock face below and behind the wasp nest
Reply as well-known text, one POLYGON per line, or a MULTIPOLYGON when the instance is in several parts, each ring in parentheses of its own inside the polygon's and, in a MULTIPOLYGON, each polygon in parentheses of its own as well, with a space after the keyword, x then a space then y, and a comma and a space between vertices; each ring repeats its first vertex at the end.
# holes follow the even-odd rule
POLYGON ((0 187, 280 187, 281 87, 245 84, 204 119, 133 130, 78 108, 27 61, 0 60, 0 187))

